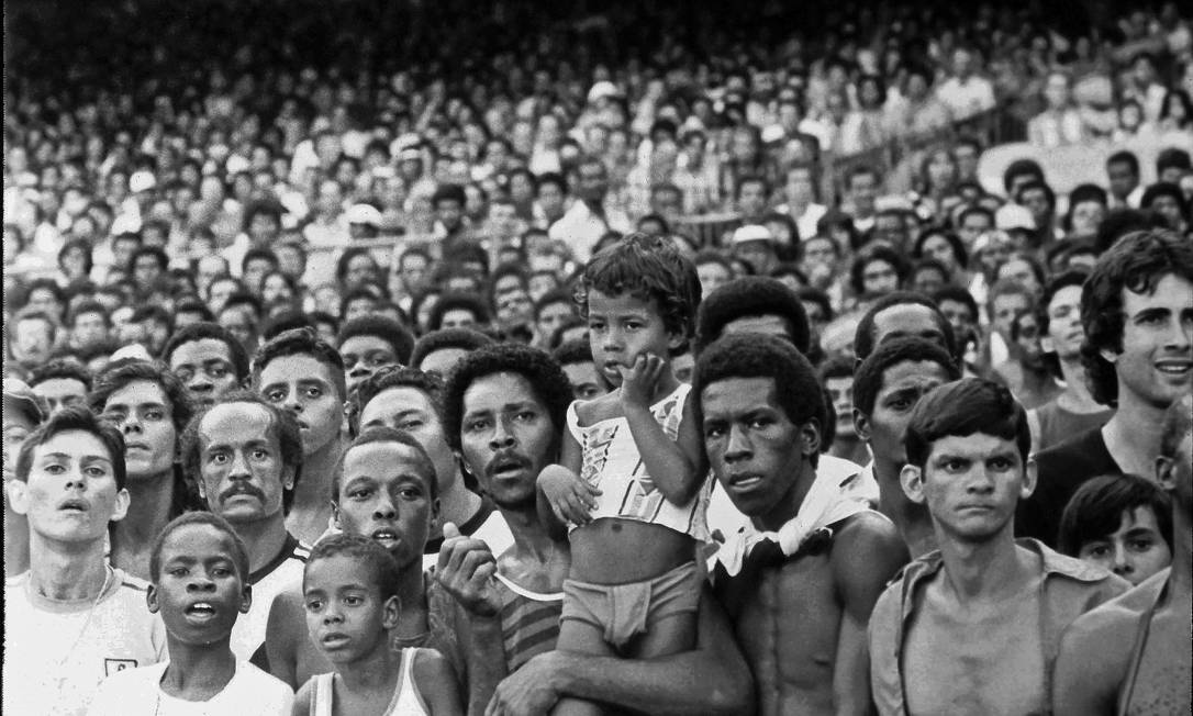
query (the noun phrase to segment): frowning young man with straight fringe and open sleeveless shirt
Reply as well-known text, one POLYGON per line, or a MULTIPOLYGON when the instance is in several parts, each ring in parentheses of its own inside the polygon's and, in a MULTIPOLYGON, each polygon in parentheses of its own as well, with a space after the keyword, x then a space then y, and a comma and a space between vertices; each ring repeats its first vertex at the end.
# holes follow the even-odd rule
POLYGON ((1014 539, 1036 487, 1027 415, 981 378, 920 400, 904 440, 907 496, 927 505, 939 551, 911 562, 870 619, 878 712, 1050 714, 1061 634, 1129 584, 1034 539, 1014 539))

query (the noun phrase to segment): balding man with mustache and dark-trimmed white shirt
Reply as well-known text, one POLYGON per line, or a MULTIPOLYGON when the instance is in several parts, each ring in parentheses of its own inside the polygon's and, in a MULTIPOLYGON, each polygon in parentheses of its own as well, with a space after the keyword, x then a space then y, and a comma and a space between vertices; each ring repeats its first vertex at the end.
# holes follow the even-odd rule
POLYGON ((253 591, 236 619, 236 659, 267 668, 265 630, 273 598, 302 580, 310 547, 286 531, 302 471, 302 438, 293 418, 255 393, 231 393, 197 415, 183 436, 186 473, 208 508, 223 517, 248 551, 245 582, 253 591))

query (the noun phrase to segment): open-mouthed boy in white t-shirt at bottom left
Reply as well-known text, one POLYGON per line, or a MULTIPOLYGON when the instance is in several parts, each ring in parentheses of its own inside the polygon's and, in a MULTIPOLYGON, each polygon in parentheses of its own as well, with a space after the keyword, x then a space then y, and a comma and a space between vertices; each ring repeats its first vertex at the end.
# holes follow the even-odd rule
POLYGON ((231 652, 231 630, 252 603, 248 554, 231 525, 188 512, 166 525, 150 556, 148 604, 166 623, 169 659, 105 680, 88 716, 203 714, 284 716, 290 689, 231 652))

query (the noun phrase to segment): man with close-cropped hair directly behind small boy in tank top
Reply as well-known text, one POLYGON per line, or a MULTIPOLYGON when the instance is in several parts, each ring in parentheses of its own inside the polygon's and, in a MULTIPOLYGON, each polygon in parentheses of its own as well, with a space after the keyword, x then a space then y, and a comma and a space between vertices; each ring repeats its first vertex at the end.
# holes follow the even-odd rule
MULTIPOLYGON (((435 465, 404 431, 369 427, 344 453, 332 487, 334 526, 376 539, 397 561, 402 613, 394 649, 429 647, 452 660, 459 654, 451 629, 453 603, 422 570, 422 549, 439 519, 435 465)), ((297 689, 332 665, 308 637, 302 584, 273 599, 265 635, 270 673, 297 689)), ((456 673, 463 663, 452 662, 456 673)))

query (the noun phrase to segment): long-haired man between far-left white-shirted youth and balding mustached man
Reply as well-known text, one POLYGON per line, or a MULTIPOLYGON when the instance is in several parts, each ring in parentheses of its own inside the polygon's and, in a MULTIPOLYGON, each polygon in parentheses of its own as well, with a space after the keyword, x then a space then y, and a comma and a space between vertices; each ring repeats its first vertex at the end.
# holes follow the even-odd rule
POLYGON ((124 436, 129 511, 111 532, 112 564, 149 576, 153 542, 183 512, 202 507, 175 464, 191 419, 186 389, 161 364, 117 360, 95 377, 87 403, 124 436))

